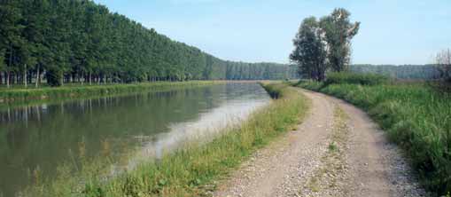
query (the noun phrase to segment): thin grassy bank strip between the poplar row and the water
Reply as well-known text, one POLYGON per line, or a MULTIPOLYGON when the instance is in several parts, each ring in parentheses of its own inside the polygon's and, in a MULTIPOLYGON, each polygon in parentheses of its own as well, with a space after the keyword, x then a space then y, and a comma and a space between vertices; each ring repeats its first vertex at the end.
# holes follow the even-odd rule
POLYGON ((2 89, 0 90, 0 103, 18 103, 31 100, 56 98, 81 98, 87 96, 106 96, 137 91, 159 91, 175 86, 195 86, 222 81, 191 81, 191 82, 158 82, 112 85, 74 85, 64 87, 44 87, 38 89, 2 89))

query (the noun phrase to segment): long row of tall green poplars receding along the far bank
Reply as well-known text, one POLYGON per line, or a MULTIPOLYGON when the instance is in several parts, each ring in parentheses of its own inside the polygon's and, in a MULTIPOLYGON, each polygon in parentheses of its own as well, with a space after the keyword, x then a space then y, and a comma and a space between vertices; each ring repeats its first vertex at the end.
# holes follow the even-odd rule
POLYGON ((89 0, 0 0, 0 84, 290 78, 273 63, 224 61, 89 0))

